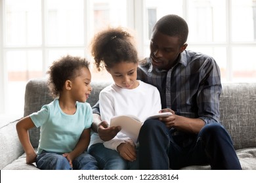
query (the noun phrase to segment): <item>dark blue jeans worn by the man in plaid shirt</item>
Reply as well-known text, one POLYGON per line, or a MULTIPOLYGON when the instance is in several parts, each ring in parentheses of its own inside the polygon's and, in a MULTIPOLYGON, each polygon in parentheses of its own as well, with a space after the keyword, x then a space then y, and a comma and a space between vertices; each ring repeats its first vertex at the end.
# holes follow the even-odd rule
POLYGON ((210 164, 211 169, 242 169, 232 140, 219 124, 205 125, 198 135, 169 130, 147 120, 139 134, 140 169, 181 169, 210 164))

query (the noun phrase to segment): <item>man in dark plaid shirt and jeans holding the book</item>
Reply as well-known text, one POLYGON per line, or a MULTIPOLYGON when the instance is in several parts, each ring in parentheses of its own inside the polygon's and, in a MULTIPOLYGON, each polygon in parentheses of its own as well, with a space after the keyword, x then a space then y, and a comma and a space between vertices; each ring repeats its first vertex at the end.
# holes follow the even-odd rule
MULTIPOLYGON (((150 58, 138 69, 138 78, 160 91, 162 112, 173 113, 142 125, 140 169, 205 163, 211 169, 242 169, 228 132, 219 124, 219 67, 213 58, 187 51, 187 37, 188 25, 181 17, 163 16, 152 30, 150 58)), ((98 125, 104 141, 118 131, 119 127, 104 128, 104 122, 98 125)))

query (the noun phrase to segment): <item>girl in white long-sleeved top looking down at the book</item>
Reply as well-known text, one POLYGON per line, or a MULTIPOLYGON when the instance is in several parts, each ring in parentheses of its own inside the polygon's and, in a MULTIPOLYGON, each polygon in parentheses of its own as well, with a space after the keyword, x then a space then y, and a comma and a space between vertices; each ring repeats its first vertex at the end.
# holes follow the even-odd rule
MULTIPOLYGON (((133 37, 122 29, 110 28, 95 35, 92 55, 96 68, 105 67, 114 84, 104 88, 99 95, 102 121, 110 122, 112 116, 131 114, 140 120, 161 110, 157 88, 137 80, 139 58, 133 37)), ((119 132, 110 141, 102 141, 93 133, 89 153, 95 156, 100 169, 138 169, 135 142, 119 132)))

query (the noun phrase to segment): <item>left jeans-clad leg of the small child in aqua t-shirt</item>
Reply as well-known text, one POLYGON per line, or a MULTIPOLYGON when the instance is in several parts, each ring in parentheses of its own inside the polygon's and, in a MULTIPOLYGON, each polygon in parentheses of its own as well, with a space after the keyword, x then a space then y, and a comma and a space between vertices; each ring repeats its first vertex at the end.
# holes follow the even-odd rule
POLYGON ((36 158, 36 165, 41 170, 72 170, 68 159, 62 154, 43 152, 36 158))

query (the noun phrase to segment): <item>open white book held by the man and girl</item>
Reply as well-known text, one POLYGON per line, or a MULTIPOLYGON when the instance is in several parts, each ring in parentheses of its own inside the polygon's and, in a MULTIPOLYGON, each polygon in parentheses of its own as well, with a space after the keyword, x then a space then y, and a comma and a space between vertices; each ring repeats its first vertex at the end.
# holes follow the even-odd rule
MULTIPOLYGON (((154 114, 153 116, 149 116, 146 120, 164 118, 171 116, 171 114, 171 112, 161 112, 154 114)), ((110 126, 121 126, 121 132, 131 138, 134 142, 137 142, 142 124, 143 122, 140 122, 137 116, 132 115, 113 116, 110 120, 110 126)))

